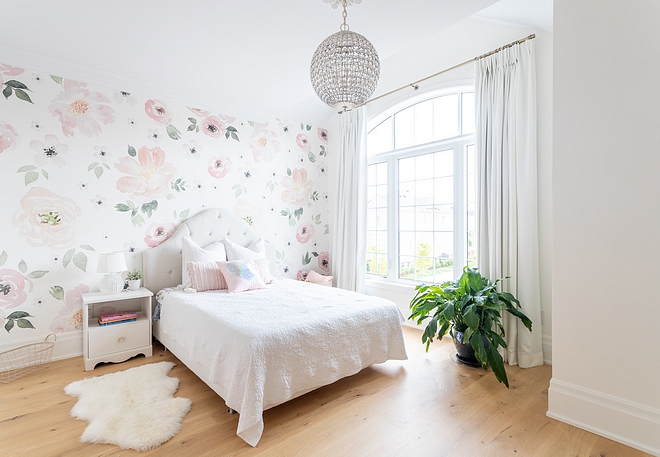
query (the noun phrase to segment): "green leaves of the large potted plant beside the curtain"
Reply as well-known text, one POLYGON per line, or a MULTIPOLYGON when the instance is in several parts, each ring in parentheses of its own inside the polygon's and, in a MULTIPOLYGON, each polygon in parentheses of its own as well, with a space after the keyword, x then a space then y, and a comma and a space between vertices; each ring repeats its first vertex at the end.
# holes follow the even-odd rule
POLYGON ((502 311, 519 318, 530 332, 532 321, 521 311, 520 302, 512 294, 497 291, 497 284, 507 278, 490 282, 476 268, 465 267, 455 281, 420 284, 410 302, 409 319, 421 325, 430 318, 422 334, 427 351, 434 338, 442 338, 449 332, 457 349, 463 342, 465 346, 469 343, 481 367, 492 369, 497 380, 508 388, 504 360, 498 351, 500 347, 507 347, 502 311))

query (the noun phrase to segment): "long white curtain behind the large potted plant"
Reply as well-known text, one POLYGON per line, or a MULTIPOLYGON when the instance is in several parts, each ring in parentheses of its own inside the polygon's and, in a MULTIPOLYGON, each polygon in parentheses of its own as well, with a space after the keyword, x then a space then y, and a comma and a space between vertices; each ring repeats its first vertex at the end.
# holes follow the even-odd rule
POLYGON ((533 322, 530 333, 505 313, 504 360, 543 365, 536 174, 536 69, 533 41, 476 63, 478 266, 489 279, 511 276, 533 322))

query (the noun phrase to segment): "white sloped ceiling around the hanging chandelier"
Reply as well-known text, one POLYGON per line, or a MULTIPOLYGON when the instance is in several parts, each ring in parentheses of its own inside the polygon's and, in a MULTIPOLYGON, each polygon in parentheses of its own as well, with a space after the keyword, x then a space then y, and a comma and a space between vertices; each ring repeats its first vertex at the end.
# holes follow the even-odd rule
MULTIPOLYGON (((490 5, 476 17, 552 28, 552 0, 363 0, 349 7, 348 24, 383 60, 490 5)), ((342 22, 341 9, 322 0, 0 0, 0 7, 6 63, 252 118, 310 104, 331 110, 309 83, 314 50, 342 22)))

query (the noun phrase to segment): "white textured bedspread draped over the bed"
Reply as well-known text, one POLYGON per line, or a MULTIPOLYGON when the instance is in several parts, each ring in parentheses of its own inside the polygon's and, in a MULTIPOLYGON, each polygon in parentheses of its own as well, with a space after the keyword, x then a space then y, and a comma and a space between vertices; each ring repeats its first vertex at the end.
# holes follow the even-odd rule
POLYGON ((263 411, 386 360, 405 360, 398 307, 377 297, 291 279, 266 289, 175 292, 160 300, 161 329, 240 413, 237 434, 256 446, 263 411))

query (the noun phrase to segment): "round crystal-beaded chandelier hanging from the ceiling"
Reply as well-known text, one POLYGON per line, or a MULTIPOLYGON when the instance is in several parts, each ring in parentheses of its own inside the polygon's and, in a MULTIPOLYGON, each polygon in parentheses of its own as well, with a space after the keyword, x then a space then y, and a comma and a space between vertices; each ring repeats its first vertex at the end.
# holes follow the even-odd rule
MULTIPOLYGON (((338 0, 332 2, 337 7, 338 0)), ((348 0, 351 1, 351 0, 348 0)), ((360 3, 360 0, 355 0, 360 3)), ((344 23, 314 52, 310 66, 312 87, 324 103, 348 111, 364 103, 376 90, 380 61, 373 45, 346 23, 347 0, 342 1, 344 23)))

